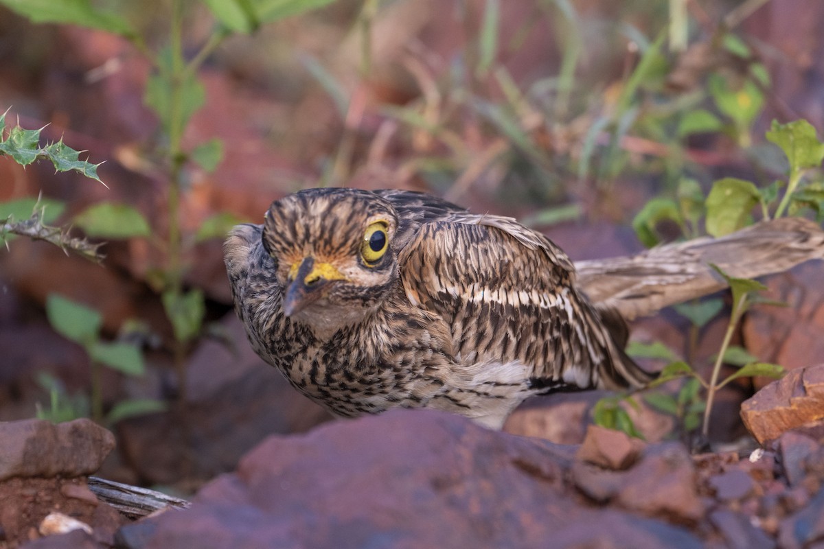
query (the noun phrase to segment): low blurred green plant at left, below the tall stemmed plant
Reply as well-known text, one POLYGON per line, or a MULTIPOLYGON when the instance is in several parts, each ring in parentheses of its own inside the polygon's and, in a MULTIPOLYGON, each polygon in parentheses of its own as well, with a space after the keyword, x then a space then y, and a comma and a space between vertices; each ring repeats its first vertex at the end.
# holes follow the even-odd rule
MULTIPOLYGON (((137 345, 130 342, 106 342, 101 339, 103 318, 99 312, 68 300, 57 294, 49 295, 46 301, 46 314, 52 328, 83 347, 91 364, 91 395, 84 408, 82 397, 66 398, 65 391, 59 384, 49 382, 49 378, 40 378, 41 386, 49 390, 49 418, 80 414, 85 409, 91 410, 91 418, 98 423, 115 423, 124 417, 138 416, 165 409, 162 402, 148 399, 126 399, 119 401, 104 414, 102 373, 103 368, 110 368, 124 375, 142 376, 146 368, 143 354, 137 345)), ((42 414, 38 410, 39 416, 42 414)))

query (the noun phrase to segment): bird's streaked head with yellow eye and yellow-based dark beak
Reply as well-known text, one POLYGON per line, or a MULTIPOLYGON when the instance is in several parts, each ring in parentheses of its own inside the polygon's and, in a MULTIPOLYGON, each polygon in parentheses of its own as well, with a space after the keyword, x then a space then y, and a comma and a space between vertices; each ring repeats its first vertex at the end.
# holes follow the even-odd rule
POLYGON ((357 189, 311 188, 273 202, 263 245, 277 264, 283 313, 324 332, 363 319, 397 281, 397 225, 390 202, 357 189))

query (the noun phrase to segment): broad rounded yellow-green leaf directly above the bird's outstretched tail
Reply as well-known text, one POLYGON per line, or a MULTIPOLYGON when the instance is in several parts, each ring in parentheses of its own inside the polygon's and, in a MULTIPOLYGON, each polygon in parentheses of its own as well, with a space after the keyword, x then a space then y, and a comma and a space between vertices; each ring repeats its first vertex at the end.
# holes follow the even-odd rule
POLYGON ((750 181, 734 177, 719 179, 707 197, 707 232, 719 237, 746 226, 752 208, 760 199, 761 193, 750 181))

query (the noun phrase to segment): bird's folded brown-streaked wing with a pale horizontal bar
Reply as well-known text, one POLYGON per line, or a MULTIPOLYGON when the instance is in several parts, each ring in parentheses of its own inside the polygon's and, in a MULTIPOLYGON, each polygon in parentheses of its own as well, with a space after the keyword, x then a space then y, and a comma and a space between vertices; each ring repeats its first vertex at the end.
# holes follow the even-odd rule
POLYGON ((512 218, 424 223, 399 263, 407 298, 441 315, 463 364, 520 362, 536 388, 648 381, 606 327, 617 317, 602 319, 576 290, 566 254, 512 218))

